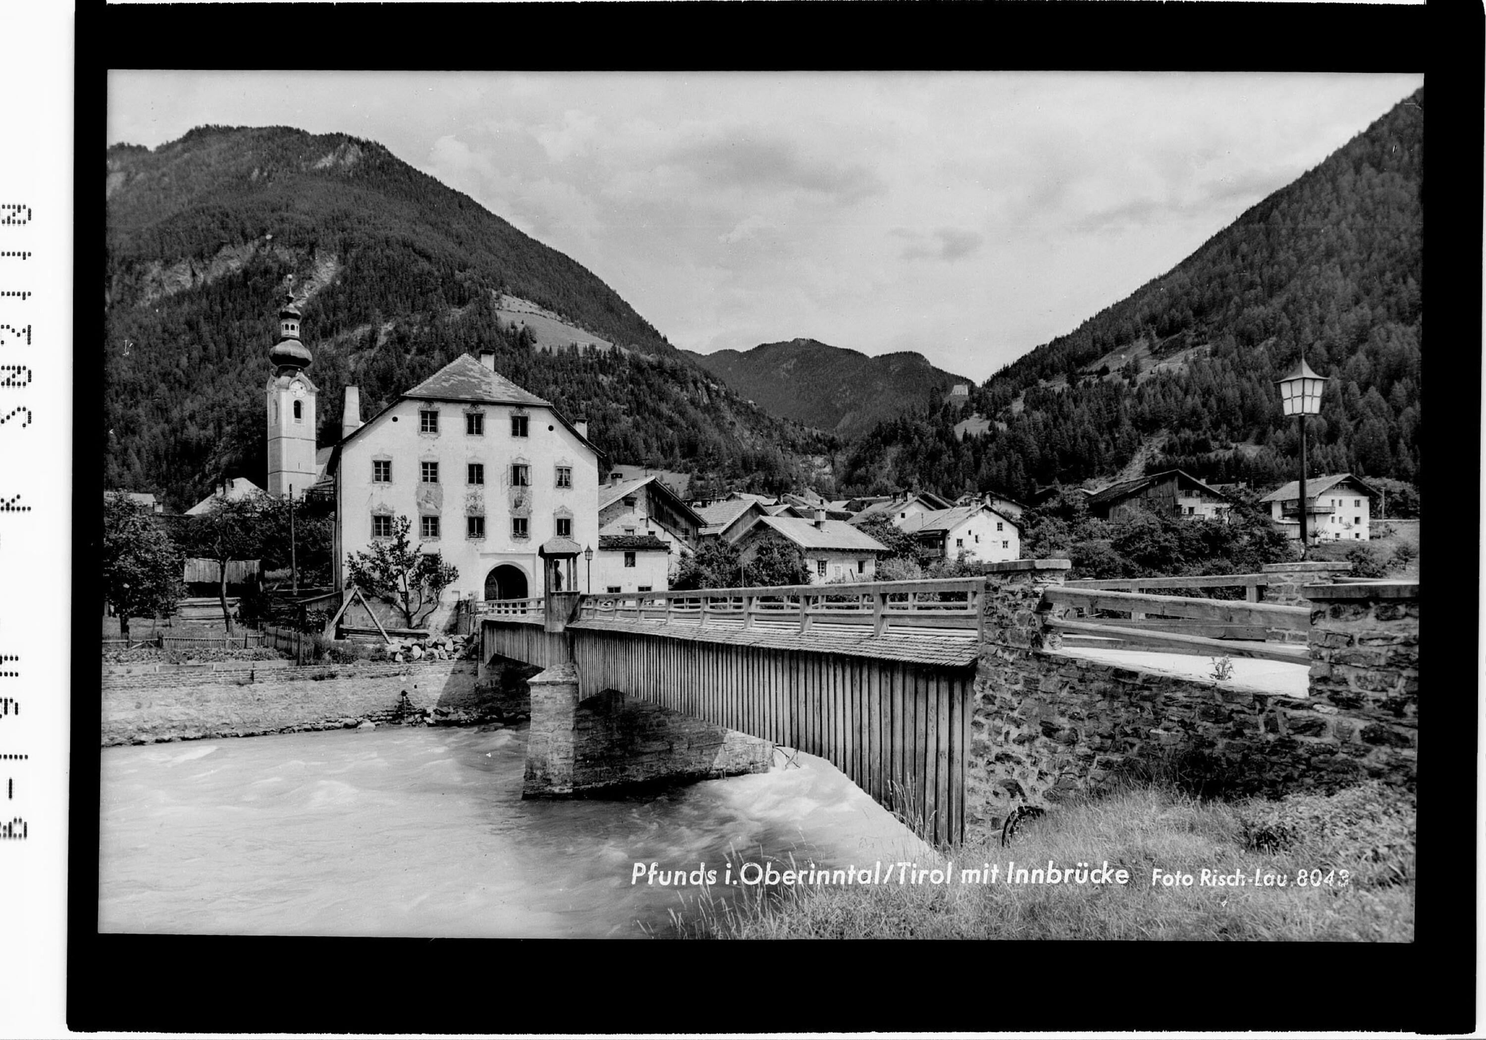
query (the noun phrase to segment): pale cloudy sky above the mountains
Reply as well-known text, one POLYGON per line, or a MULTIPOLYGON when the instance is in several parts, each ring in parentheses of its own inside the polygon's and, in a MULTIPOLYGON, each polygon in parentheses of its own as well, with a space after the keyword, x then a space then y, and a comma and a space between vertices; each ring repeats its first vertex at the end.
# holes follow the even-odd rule
POLYGON ((917 351, 982 382, 1422 86, 1318 73, 116 71, 108 143, 379 141, 675 346, 917 351))

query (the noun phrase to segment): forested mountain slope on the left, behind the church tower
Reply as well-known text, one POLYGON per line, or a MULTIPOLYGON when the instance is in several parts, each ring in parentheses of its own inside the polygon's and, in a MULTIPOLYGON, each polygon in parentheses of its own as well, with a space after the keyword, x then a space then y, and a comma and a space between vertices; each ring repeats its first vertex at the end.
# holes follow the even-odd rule
POLYGON ((107 155, 106 483, 174 508, 223 475, 263 483, 263 385, 288 276, 319 386, 374 415, 462 351, 590 419, 612 461, 799 483, 817 434, 743 401, 569 257, 374 141, 288 128, 190 131, 107 155), (496 315, 529 300, 626 351, 545 352, 496 315))

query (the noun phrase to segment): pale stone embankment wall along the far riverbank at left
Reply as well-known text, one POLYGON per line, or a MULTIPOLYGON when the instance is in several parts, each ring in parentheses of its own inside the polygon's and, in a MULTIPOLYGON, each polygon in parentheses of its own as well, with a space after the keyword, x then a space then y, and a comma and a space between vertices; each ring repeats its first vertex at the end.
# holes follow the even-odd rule
POLYGON ((103 676, 103 743, 336 729, 361 722, 507 719, 511 691, 474 661, 241 667, 103 676), (400 707, 407 691, 407 707, 400 707))

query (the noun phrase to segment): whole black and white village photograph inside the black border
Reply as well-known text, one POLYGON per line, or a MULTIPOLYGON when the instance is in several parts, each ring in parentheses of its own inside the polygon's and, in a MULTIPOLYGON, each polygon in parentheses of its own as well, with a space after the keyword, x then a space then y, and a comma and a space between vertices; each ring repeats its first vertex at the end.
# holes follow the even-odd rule
POLYGON ((134 64, 100 940, 1421 939, 1424 71, 134 64))

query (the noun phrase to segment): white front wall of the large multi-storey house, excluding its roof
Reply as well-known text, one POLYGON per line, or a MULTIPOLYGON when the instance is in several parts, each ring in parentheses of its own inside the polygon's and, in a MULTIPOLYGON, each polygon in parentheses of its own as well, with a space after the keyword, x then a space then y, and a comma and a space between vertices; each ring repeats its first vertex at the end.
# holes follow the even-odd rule
MULTIPOLYGON (((455 599, 484 599, 486 576, 510 563, 528 579, 528 594, 541 596, 542 572, 536 548, 568 521, 580 545, 599 544, 599 461, 548 409, 467 401, 404 400, 372 419, 342 443, 336 480, 336 581, 345 579, 345 559, 367 550, 374 517, 406 516, 410 538, 438 550, 459 576, 444 590, 438 624, 455 599), (438 413, 437 432, 424 432, 421 412, 438 413), (467 432, 467 413, 483 416, 483 432, 467 432), (511 416, 525 413, 526 437, 511 431, 511 416), (374 464, 389 464, 385 467, 374 464), (424 464, 437 465, 437 483, 424 477, 424 464), (483 467, 483 483, 471 483, 470 465, 483 467), (525 465, 529 486, 511 483, 511 467, 525 465), (571 486, 559 487, 559 467, 571 471, 571 486), (389 480, 379 477, 389 475, 389 480), (428 536, 425 517, 437 523, 428 536), (483 535, 470 517, 483 519, 483 535), (525 520, 525 532, 513 520, 525 520)), ((580 559, 580 578, 583 560, 580 559)))

